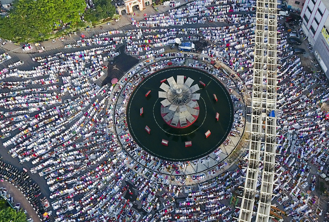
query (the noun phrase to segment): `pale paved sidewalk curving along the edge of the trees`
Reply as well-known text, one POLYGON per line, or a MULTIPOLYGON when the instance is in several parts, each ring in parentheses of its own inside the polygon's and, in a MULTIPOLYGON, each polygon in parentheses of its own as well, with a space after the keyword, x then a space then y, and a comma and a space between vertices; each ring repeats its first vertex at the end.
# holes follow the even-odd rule
MULTIPOLYGON (((185 0, 178 0, 176 2, 180 2, 181 5, 186 3, 185 0)), ((167 5, 167 6, 160 5, 160 6, 157 6, 157 8, 158 8, 158 11, 155 11, 152 6, 148 6, 143 11, 137 10, 135 12, 135 15, 127 15, 127 14, 122 15, 118 22, 112 21, 111 25, 107 25, 106 23, 97 25, 95 27, 91 27, 90 30, 88 30, 88 31, 86 31, 86 30, 77 31, 76 34, 71 34, 71 37, 69 35, 66 35, 66 36, 64 36, 63 41, 60 38, 58 38, 55 40, 56 42, 52 42, 52 40, 42 42, 41 46, 44 47, 44 49, 45 49, 44 51, 60 48, 67 44, 76 43, 77 40, 80 40, 81 33, 85 34, 85 38, 92 38, 92 36, 94 34, 106 32, 108 30, 117 30, 117 29, 121 29, 124 26, 131 25, 131 18, 134 18, 134 20, 136 20, 136 21, 141 21, 145 18, 143 16, 144 13, 146 13, 147 16, 150 16, 153 14, 163 13, 165 11, 172 9, 172 7, 170 7, 169 5, 167 5)), ((21 44, 21 46, 22 45, 23 44, 21 44)), ((33 46, 33 48, 28 51, 23 51, 21 46, 14 44, 14 43, 10 43, 10 42, 7 42, 6 45, 2 45, 2 42, 1 42, 0 47, 7 51, 14 52, 14 53, 36 53, 36 52, 38 52, 38 50, 41 50, 41 46, 35 46, 33 43, 31 43, 31 45, 33 46)))

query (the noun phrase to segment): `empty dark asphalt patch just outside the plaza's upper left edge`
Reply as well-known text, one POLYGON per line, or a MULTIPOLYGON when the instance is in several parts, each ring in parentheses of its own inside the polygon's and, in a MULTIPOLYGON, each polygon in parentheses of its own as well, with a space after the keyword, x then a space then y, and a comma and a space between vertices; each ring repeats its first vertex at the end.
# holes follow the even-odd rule
POLYGON ((109 61, 107 65, 107 77, 103 80, 102 86, 111 83, 113 78, 119 80, 126 71, 138 63, 138 59, 124 53, 124 45, 119 48, 119 51, 120 55, 115 57, 113 61, 109 61), (113 64, 111 64, 112 62, 113 64))

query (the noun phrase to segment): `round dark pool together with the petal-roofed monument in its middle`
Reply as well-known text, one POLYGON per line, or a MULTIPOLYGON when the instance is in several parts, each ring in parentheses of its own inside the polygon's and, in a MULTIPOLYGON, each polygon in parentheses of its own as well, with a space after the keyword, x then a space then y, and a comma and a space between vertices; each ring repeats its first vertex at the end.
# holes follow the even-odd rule
POLYGON ((215 77, 196 68, 170 67, 140 82, 126 116, 129 131, 143 150, 163 160, 190 161, 224 142, 233 113, 230 95, 215 77))

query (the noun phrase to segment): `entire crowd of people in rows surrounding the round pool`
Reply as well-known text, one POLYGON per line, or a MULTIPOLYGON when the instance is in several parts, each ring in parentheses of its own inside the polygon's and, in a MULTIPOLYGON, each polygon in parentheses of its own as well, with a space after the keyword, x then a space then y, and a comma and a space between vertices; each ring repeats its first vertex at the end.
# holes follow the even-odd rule
MULTIPOLYGON (((124 122, 125 105, 136 85, 170 62, 203 69, 226 84, 235 106, 230 138, 242 135, 245 119, 238 98, 239 92, 247 92, 245 87, 252 87, 254 1, 228 3, 232 2, 195 1, 133 21, 136 29, 79 40, 67 46, 81 48, 74 53, 35 57, 40 65, 32 70, 20 70, 20 62, 0 71, 0 139, 12 157, 22 164, 31 162, 30 173, 46 180, 55 221, 236 221, 233 217, 239 215, 239 208, 234 209, 231 202, 241 196, 246 153, 237 162, 239 168, 230 171, 220 158, 221 149, 211 154, 211 160, 164 161, 142 150, 124 122), (223 26, 181 26, 203 22, 223 26), (197 58, 193 53, 165 52, 176 38, 191 36, 206 43, 197 58), (116 87, 101 86, 104 58, 118 56, 121 45, 125 53, 143 61, 127 71, 116 87), (226 64, 237 78, 215 69, 212 61, 226 64), (189 164, 213 165, 207 172, 186 176, 182 172, 189 164)), ((324 209, 318 208, 318 197, 307 190, 315 186, 310 168, 320 167, 321 173, 325 164, 329 114, 321 107, 329 100, 327 79, 321 71, 312 73, 301 66, 300 57, 287 43, 286 28, 278 29, 282 61, 277 162, 282 164, 276 168, 273 200, 297 221, 305 217, 316 221, 324 209)), ((10 57, 3 54, 0 59, 1 63, 10 57)), ((19 187, 40 218, 47 220, 38 186, 26 173, 1 164, 0 178, 19 187)))

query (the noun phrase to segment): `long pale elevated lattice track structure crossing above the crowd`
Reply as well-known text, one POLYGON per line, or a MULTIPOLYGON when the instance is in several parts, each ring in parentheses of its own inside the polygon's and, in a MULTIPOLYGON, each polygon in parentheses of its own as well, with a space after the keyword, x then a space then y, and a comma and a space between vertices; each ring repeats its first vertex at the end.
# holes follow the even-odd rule
POLYGON ((269 221, 275 176, 277 0, 257 0, 255 21, 251 138, 240 222, 250 222, 254 214, 256 222, 269 221), (259 202, 257 212, 254 212, 257 194, 259 202))

